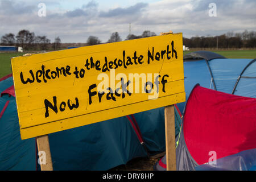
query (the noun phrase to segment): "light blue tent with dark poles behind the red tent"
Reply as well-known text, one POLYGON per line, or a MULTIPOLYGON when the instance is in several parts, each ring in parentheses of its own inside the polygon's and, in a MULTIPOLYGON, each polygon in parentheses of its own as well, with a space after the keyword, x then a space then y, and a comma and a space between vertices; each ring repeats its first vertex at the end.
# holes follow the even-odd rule
MULTIPOLYGON (((186 101, 196 84, 244 97, 256 97, 256 60, 226 59, 209 51, 184 55, 186 101)), ((185 102, 177 104, 183 111, 185 102)))

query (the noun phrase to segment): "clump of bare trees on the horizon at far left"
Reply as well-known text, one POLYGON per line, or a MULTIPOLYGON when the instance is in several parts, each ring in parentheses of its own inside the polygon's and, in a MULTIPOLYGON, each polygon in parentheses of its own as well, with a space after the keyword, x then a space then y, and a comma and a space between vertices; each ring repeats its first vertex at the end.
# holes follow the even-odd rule
POLYGON ((54 43, 51 43, 46 35, 36 36, 34 32, 28 30, 20 30, 16 36, 12 33, 5 34, 1 38, 2 46, 22 47, 25 51, 58 49, 60 44, 59 37, 55 38, 54 43))

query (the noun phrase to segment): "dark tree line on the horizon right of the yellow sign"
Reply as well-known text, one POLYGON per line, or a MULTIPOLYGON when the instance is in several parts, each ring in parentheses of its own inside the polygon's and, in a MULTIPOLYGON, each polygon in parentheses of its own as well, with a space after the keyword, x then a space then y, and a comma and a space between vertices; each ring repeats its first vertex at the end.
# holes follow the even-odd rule
POLYGON ((242 33, 228 32, 219 36, 194 36, 183 38, 183 45, 189 48, 255 48, 256 31, 242 33))

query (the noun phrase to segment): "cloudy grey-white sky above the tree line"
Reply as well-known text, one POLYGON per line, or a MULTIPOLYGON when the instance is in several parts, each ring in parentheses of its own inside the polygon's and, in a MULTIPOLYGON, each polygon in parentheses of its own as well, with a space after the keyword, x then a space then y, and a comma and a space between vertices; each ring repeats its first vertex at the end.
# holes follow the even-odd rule
MULTIPOLYGON (((40 11, 41 15, 43 11, 40 11)), ((214 36, 228 31, 256 30, 255 0, 0 0, 0 36, 26 29, 54 42, 85 43, 90 35, 102 42, 117 31, 122 40, 150 30, 183 32, 183 36, 214 36), (39 3, 46 16, 39 16, 39 3), (210 3, 216 4, 216 16, 210 3)))

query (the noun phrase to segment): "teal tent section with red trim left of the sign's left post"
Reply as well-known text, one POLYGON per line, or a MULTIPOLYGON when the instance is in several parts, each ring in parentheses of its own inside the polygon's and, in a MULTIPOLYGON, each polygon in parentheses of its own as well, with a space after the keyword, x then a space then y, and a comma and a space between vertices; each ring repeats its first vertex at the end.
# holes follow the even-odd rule
MULTIPOLYGON (((13 85, 11 75, 0 81, 0 93, 13 85)), ((0 170, 35 170, 35 138, 21 140, 16 101, 9 94, 0 97, 0 170)))

